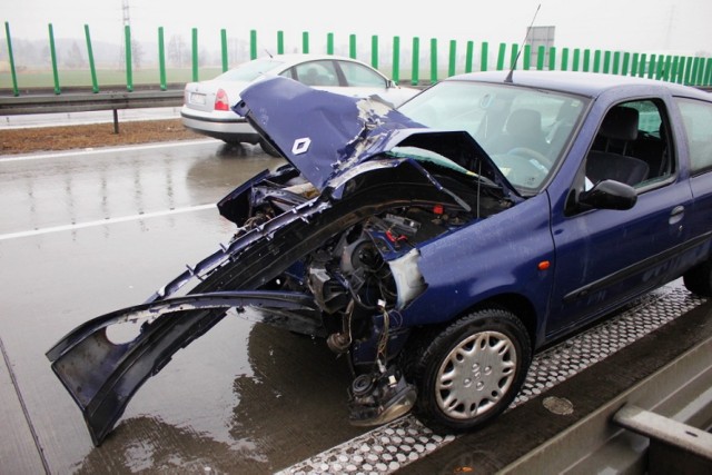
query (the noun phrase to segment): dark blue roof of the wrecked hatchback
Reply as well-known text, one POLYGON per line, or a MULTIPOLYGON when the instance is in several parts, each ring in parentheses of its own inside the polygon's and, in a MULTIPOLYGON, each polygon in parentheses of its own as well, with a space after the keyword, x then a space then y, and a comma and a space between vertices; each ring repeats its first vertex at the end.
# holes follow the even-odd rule
MULTIPOLYGON (((507 75, 508 71, 471 72, 453 76, 446 80, 504 83, 506 82, 507 75)), ((597 97, 610 89, 621 87, 664 88, 674 96, 712 100, 711 93, 693 87, 646 78, 596 72, 515 70, 512 75, 512 83, 515 86, 551 89, 587 97, 597 97)))

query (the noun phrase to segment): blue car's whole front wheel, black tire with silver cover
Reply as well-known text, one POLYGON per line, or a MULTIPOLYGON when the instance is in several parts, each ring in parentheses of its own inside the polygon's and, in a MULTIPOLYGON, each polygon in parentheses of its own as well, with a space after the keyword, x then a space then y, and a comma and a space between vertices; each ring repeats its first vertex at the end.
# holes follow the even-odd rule
POLYGON ((526 328, 500 308, 474 311, 415 339, 404 366, 418 390, 415 413, 435 432, 468 431, 503 413, 532 360, 526 328))

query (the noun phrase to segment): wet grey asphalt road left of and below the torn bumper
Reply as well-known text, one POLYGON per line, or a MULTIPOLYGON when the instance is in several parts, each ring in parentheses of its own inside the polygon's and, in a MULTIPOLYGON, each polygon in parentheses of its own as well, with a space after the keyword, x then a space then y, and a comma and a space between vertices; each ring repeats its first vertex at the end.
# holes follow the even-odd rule
POLYGON ((347 424, 344 362, 237 318, 178 352, 99 448, 44 357, 227 243, 211 205, 279 164, 212 140, 0 157, 1 473, 261 474, 364 432, 347 424))

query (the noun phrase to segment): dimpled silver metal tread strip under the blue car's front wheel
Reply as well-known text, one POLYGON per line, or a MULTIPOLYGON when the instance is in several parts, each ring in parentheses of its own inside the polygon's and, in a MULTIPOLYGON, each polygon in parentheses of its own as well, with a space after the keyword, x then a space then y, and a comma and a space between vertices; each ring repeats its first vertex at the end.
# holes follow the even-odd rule
MULTIPOLYGON (((629 310, 537 355, 510 409, 536 398, 704 301, 683 288, 669 285, 646 295, 629 310)), ((453 435, 434 434, 408 415, 276 475, 390 474, 454 439, 453 435)))

